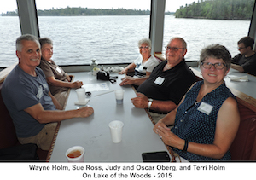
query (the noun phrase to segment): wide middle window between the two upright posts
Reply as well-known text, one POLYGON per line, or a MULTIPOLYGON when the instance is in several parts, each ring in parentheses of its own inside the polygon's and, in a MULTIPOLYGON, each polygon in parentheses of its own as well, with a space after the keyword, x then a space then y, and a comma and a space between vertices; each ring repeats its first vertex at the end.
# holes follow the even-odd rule
MULTIPOLYGON (((53 59, 57 64, 89 64, 92 59, 96 59, 98 63, 122 63, 137 58, 138 40, 149 38, 150 0, 140 3, 111 0, 79 1, 77 4, 70 2, 66 4, 68 9, 64 9, 67 8, 64 4, 63 9, 56 5, 49 11, 54 14, 60 13, 62 9, 63 15, 41 16, 38 12, 40 36, 53 40, 53 59), (105 4, 107 2, 109 5, 105 4), (73 7, 81 9, 72 9, 73 7), (127 13, 124 9, 141 9, 143 12, 128 13, 146 15, 119 15, 127 13), (68 13, 75 14, 75 11, 79 15, 67 16, 68 13)), ((47 3, 37 0, 38 9, 45 9, 45 4, 47 3)))

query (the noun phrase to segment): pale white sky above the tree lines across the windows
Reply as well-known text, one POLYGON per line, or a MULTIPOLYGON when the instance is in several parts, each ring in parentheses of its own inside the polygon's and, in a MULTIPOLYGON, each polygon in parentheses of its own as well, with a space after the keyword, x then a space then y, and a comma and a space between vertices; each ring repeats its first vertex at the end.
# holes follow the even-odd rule
MULTIPOLYGON (((175 12, 186 3, 198 0, 166 0, 166 11, 175 12)), ((36 0, 38 9, 61 9, 69 7, 96 8, 96 9, 150 9, 150 0, 36 0)), ((0 14, 17 9, 16 0, 0 2, 0 14)))

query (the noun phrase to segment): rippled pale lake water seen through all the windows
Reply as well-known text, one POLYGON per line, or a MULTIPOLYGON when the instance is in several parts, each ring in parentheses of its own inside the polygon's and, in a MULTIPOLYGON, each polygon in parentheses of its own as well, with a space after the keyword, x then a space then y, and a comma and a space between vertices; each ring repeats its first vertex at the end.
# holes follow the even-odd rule
MULTIPOLYGON (((131 62, 139 51, 137 41, 149 37, 149 15, 143 16, 39 16, 41 37, 54 42, 53 60, 59 65, 131 62)), ((165 17, 164 46, 172 37, 188 44, 187 61, 197 61, 201 49, 223 44, 232 56, 237 41, 247 36, 249 20, 200 20, 165 17)), ((0 16, 0 67, 17 62, 15 39, 20 36, 18 17, 0 16)))

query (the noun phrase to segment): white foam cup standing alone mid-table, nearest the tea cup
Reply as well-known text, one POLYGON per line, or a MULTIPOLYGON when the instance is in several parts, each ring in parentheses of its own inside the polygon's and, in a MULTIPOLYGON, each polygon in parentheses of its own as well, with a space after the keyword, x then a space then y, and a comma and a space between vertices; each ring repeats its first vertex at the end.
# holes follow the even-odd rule
POLYGON ((108 124, 110 128, 111 138, 113 143, 122 141, 122 131, 124 123, 119 120, 113 120, 108 124))

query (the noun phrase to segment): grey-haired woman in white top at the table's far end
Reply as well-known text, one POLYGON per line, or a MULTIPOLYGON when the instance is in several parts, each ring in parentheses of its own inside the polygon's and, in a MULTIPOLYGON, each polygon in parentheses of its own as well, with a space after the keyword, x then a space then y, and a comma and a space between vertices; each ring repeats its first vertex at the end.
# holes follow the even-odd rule
POLYGON ((151 55, 151 41, 148 38, 143 38, 138 42, 140 56, 137 57, 130 65, 125 67, 119 74, 127 74, 135 71, 135 76, 138 78, 149 76, 154 67, 159 64, 159 61, 151 55))

